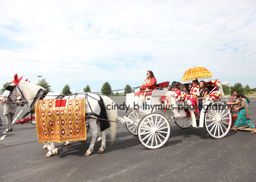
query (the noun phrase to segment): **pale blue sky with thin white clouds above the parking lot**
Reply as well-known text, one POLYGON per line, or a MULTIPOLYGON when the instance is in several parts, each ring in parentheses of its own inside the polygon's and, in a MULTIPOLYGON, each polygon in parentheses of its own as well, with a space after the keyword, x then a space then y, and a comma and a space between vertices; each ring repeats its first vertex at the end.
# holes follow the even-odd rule
POLYGON ((195 66, 256 87, 255 1, 0 1, 0 84, 52 91, 181 81, 195 66))

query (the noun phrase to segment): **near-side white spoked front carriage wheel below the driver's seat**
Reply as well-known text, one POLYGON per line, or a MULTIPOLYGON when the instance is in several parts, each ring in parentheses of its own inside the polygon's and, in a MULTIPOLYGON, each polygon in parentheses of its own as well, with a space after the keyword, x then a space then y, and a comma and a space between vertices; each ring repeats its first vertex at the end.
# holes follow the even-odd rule
POLYGON ((150 113, 140 121, 138 137, 140 143, 148 149, 158 149, 167 142, 170 131, 170 123, 164 115, 150 113))

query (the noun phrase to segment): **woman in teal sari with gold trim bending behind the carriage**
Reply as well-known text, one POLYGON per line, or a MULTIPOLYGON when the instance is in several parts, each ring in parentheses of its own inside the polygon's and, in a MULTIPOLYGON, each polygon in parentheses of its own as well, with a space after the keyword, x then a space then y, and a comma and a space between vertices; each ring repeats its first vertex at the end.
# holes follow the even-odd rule
POLYGON ((237 98, 240 99, 239 107, 236 110, 240 110, 237 120, 235 121, 231 130, 248 130, 251 133, 256 133, 256 128, 252 124, 251 116, 250 116, 250 108, 247 100, 244 98, 244 95, 238 94, 237 98))

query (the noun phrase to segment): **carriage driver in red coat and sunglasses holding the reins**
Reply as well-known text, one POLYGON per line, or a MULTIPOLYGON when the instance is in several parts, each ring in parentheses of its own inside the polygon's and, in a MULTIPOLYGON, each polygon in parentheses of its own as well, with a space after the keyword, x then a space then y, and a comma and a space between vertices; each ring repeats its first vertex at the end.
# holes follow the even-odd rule
POLYGON ((135 104, 142 105, 141 101, 144 100, 142 97, 145 97, 147 91, 153 91, 156 88, 156 78, 152 71, 147 71, 147 79, 144 81, 144 84, 140 85, 140 91, 135 94, 135 104))

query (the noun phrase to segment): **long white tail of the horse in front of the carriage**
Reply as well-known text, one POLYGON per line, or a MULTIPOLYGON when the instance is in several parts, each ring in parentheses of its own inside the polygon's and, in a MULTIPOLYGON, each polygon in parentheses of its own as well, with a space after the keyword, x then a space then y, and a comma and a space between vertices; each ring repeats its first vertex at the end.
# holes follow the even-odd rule
MULTIPOLYGON (((115 109, 115 103, 107 96, 101 96, 104 102, 104 106, 107 110, 108 120, 116 121, 117 110, 115 109), (107 107, 108 106, 108 107, 107 107)), ((110 140, 111 144, 116 139, 116 122, 110 121, 110 140)))

